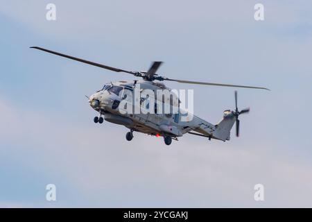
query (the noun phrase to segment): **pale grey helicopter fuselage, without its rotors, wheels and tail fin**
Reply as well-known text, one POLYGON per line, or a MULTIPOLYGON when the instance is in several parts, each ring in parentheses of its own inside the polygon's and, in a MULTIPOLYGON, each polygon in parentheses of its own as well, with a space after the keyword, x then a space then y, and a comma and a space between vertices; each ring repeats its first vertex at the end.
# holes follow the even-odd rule
MULTIPOLYGON (((162 103, 171 103, 170 106, 177 106, 178 112, 176 113, 157 113, 157 110, 153 113, 121 113, 119 110, 119 105, 124 99, 123 94, 119 94, 122 89, 128 89, 134 91, 135 87, 139 85, 140 94, 144 92, 144 89, 153 90, 168 90, 170 88, 166 87, 162 83, 155 83, 151 81, 119 81, 116 83, 111 83, 105 85, 103 89, 99 90, 95 94, 89 97, 89 104, 96 110, 100 117, 103 115, 105 121, 111 123, 116 123, 129 128, 132 131, 137 131, 140 133, 146 133, 148 135, 162 136, 162 137, 172 137, 177 139, 185 133, 190 131, 196 131, 206 137, 214 139, 229 139, 217 138, 214 135, 216 131, 216 126, 196 117, 187 110, 180 108, 180 103, 173 103, 172 101, 161 101, 162 103), (117 93, 118 92, 118 93, 117 93), (183 118, 184 117, 184 118, 183 118)), ((175 94, 173 94, 174 96, 175 94)), ((141 96, 140 96, 141 98, 141 96)), ((178 100, 177 100, 178 101, 178 100)), ((156 104, 156 103, 155 103, 156 104)), ((132 104, 133 105, 133 104, 132 104)), ((139 104, 141 105, 141 104, 139 104)))

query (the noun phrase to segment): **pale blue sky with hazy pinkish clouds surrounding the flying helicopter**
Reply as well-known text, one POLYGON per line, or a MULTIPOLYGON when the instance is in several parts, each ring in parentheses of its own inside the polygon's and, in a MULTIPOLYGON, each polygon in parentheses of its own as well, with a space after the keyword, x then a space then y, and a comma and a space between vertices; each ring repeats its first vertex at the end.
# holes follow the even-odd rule
MULTIPOLYGON (((312 207, 312 3, 309 1, 0 0, 1 207, 312 207), (45 19, 55 3, 57 21, 45 19), (265 6, 255 22, 254 4, 265 6), (169 78, 259 85, 239 89, 241 137, 162 139, 95 125, 85 99, 126 74, 29 46, 169 78), (57 187, 57 202, 45 186, 57 187), (263 203, 253 187, 266 189, 263 203)), ((194 89, 211 123, 234 89, 194 89)))

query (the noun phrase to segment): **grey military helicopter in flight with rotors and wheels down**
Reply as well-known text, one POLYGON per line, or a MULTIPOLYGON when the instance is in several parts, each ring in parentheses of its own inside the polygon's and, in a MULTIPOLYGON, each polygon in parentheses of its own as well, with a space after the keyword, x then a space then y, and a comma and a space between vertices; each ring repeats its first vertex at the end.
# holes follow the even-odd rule
MULTIPOLYGON (((239 110, 237 107, 237 91, 234 92, 235 99, 235 109, 225 110, 223 112, 223 118, 216 124, 209 123, 200 117, 183 110, 180 108, 180 99, 178 99, 175 94, 171 96, 175 99, 167 99, 166 101, 157 98, 158 96, 148 96, 144 95, 144 90, 150 90, 151 92, 156 92, 157 90, 167 90, 171 92, 169 87, 166 87, 163 81, 173 81, 177 83, 189 83, 196 85, 214 85, 220 87, 241 87, 250 89, 266 89, 266 87, 254 87, 247 85, 229 85, 220 83, 206 83, 191 80, 179 80, 173 78, 167 78, 157 74, 157 70, 162 65, 163 62, 153 62, 148 71, 128 71, 125 69, 119 69, 115 67, 110 67, 96 62, 91 62, 89 60, 83 60, 81 58, 76 58, 73 56, 68 56, 63 53, 58 53, 56 51, 51 51, 49 49, 44 49, 38 46, 32 46, 31 49, 37 49, 44 51, 46 53, 51 53, 56 56, 61 56, 63 58, 68 58, 71 60, 76 60, 78 62, 83 62, 88 65, 95 67, 100 67, 115 72, 122 72, 125 74, 130 74, 135 77, 140 77, 142 80, 131 80, 124 81, 120 80, 116 83, 107 83, 102 89, 98 90, 92 96, 86 96, 91 108, 98 112, 98 116, 94 117, 94 123, 103 123, 103 121, 108 121, 110 123, 119 124, 125 126, 129 129, 126 133, 125 138, 131 141, 134 137, 133 133, 145 133, 146 135, 152 135, 156 137, 163 137, 164 143, 170 145, 172 140, 178 140, 178 137, 182 137, 184 134, 189 133, 191 135, 196 135, 200 137, 207 137, 209 140, 218 139, 220 141, 227 141, 230 139, 230 132, 234 123, 236 123, 236 137, 239 137, 239 116, 241 114, 246 114, 250 112, 250 108, 245 108, 239 110), (139 86, 139 90, 138 89, 139 86), (121 112, 123 110, 123 101, 128 97, 127 92, 136 92, 139 95, 139 106, 144 104, 146 108, 148 107, 150 112, 121 112), (157 101, 155 107, 150 101, 157 101), (148 101, 148 102, 147 102, 148 101), (159 102, 160 101, 160 102, 159 102), (152 104, 152 105, 150 105, 152 104), (157 104, 166 104, 173 110, 176 108, 177 112, 163 113, 159 112, 157 104), (182 120, 183 119, 183 120, 182 120)), ((171 97, 171 98, 173 98, 171 97)), ((130 98, 130 96, 129 96, 130 98)), ((131 99, 128 101, 131 101, 131 99)), ((133 99, 132 99, 133 102, 133 99)), ((134 107, 134 103, 125 103, 124 107, 134 107), (130 105, 129 105, 130 104, 130 105)), ((124 110, 123 110, 124 111, 124 110)))

